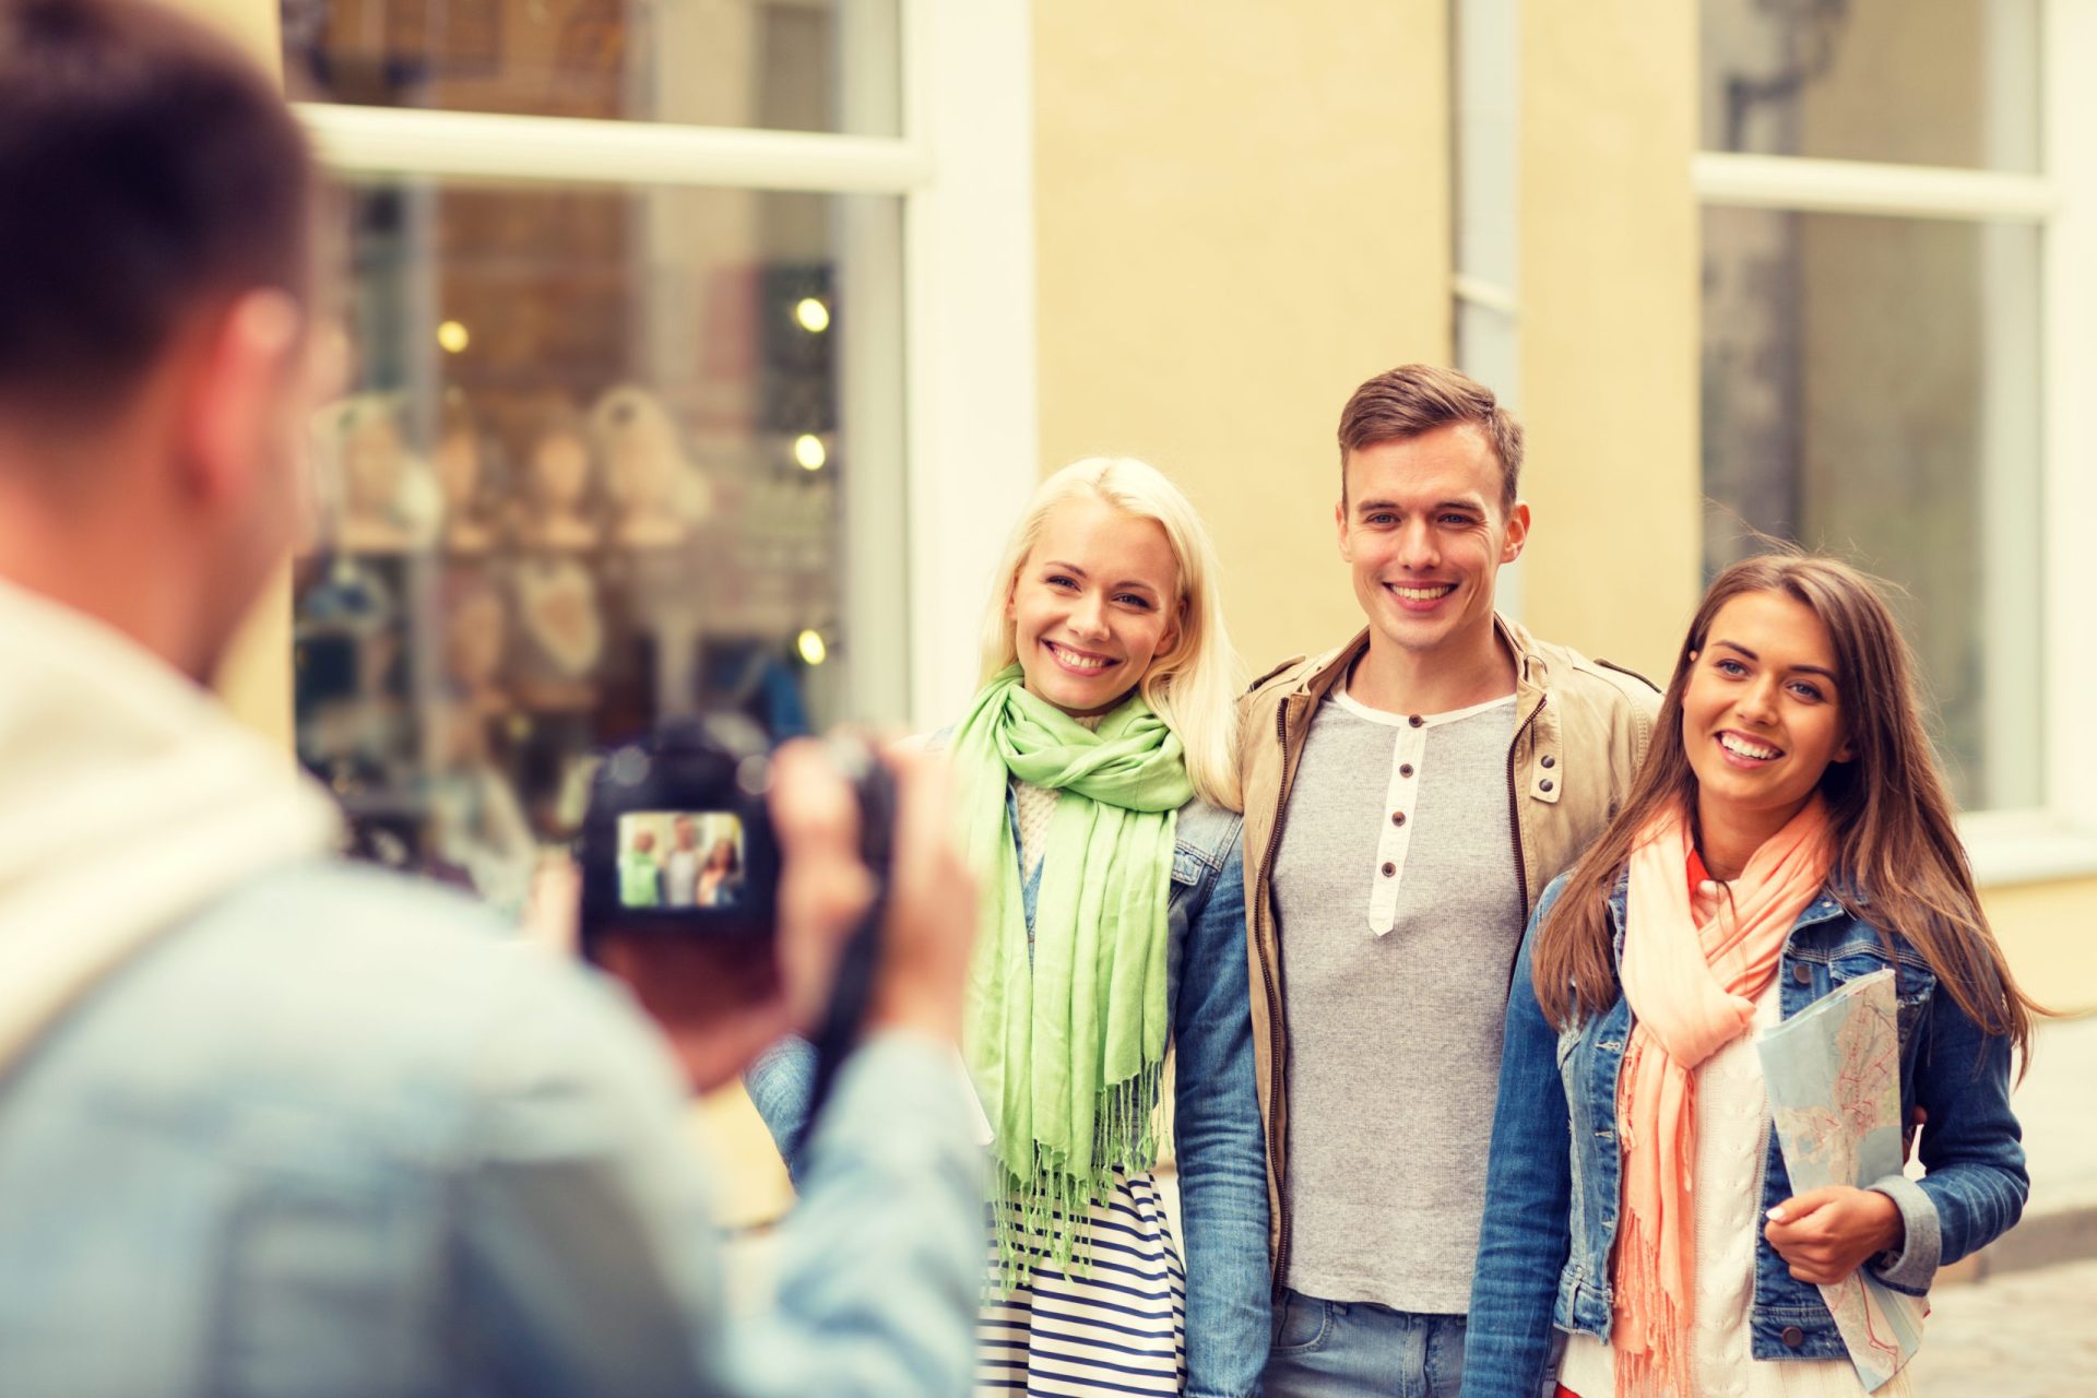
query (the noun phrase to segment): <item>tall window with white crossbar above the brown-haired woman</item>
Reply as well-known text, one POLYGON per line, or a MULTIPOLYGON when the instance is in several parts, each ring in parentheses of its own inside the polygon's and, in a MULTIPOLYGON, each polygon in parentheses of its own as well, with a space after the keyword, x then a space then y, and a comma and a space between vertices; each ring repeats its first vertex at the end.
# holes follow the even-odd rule
POLYGON ((2038 0, 1705 0, 1705 566, 1891 581, 1967 811, 2051 805, 2038 0))

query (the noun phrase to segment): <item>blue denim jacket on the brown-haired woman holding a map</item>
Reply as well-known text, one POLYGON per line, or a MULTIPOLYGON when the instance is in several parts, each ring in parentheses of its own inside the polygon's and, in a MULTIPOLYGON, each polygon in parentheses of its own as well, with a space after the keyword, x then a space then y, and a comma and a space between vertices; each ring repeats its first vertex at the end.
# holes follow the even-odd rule
MULTIPOLYGON (((1508 996, 1464 1360, 1464 1392, 1487 1398, 1550 1392, 1554 1329, 1608 1339, 1623 1163, 1617 1077, 1631 1010, 1619 996, 1604 1014, 1560 1031, 1537 1008, 1531 949, 1564 882, 1560 876, 1539 899, 1508 996)), ((1627 889, 1619 876, 1608 899, 1619 962, 1627 889)), ((1776 970, 1780 1017, 1791 1019, 1837 985, 1885 966, 1896 970, 1900 1002, 1900 1111, 1902 1119, 1917 1107, 1927 1111, 1921 1134, 1927 1176, 1871 1182, 1900 1207, 1906 1239, 1898 1255, 1866 1266, 1885 1285, 1925 1295, 1940 1266, 2017 1222, 2030 1178, 2009 1109, 2009 1040, 1984 1033, 1938 987, 1904 937, 1883 937, 1829 889, 1808 903, 1785 939, 1776 970)), ((1774 1130, 1759 1195, 1761 1211, 1793 1195, 1774 1130)), ((1761 1237, 1755 1239, 1749 1329, 1757 1360, 1847 1356, 1820 1289, 1793 1279, 1761 1237)))

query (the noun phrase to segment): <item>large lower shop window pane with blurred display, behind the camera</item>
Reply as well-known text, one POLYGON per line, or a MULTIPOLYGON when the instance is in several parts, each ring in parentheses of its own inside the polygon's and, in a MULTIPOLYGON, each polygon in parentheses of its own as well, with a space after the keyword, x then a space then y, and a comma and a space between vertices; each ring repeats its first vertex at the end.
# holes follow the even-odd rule
POLYGON ((902 713, 902 327, 868 310, 898 199, 394 180, 342 212, 294 675, 361 853, 516 910, 606 742, 902 713))

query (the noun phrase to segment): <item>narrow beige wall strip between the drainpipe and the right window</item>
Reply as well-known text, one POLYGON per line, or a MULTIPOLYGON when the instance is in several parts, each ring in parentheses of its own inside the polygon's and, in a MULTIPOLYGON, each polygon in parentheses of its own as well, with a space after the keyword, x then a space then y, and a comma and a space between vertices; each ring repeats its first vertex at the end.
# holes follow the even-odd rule
POLYGON ((1522 612, 1655 683, 1701 595, 1696 6, 1525 4, 1522 612))

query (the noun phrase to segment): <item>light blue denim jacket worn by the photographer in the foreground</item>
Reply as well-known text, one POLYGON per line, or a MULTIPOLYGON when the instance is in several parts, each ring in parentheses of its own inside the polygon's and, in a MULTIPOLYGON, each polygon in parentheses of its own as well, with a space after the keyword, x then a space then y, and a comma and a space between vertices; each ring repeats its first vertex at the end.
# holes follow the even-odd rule
POLYGON ((960 1398, 981 1163, 948 1050, 872 1042, 778 1304, 730 1323, 686 1088, 627 996, 463 899, 310 864, 0 1079, 0 1258, 8 1398, 960 1398))

